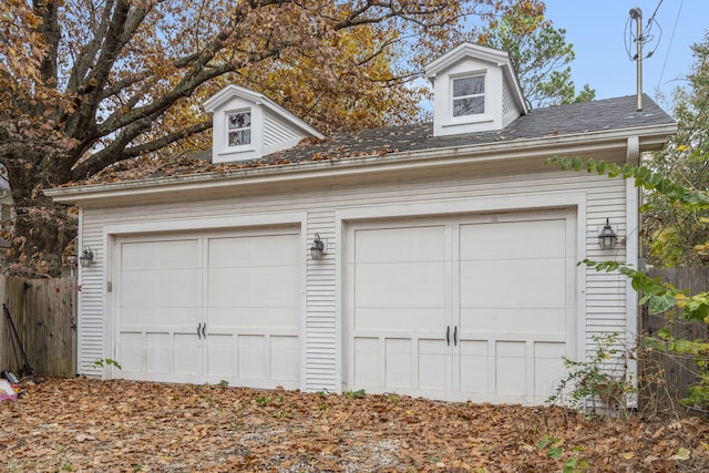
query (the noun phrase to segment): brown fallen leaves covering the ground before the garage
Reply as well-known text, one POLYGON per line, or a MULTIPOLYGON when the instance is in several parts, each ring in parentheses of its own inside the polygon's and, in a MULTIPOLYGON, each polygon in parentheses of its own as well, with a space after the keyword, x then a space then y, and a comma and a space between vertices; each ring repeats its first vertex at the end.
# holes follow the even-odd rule
POLYGON ((709 470, 698 418, 84 378, 24 390, 0 403, 4 471, 709 470))

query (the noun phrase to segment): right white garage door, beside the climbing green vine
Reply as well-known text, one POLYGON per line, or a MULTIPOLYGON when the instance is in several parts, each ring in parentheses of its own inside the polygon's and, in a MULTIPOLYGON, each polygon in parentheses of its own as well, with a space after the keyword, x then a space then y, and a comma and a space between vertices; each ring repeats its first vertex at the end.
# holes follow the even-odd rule
POLYGON ((350 226, 348 389, 543 402, 575 357, 575 227, 571 210, 350 226))

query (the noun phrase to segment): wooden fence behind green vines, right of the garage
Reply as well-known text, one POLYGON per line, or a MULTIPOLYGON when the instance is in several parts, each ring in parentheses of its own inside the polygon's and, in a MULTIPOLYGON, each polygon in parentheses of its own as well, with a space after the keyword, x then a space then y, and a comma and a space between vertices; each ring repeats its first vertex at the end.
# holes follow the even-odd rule
MULTIPOLYGON (((648 276, 659 277, 679 289, 688 289, 690 294, 709 290, 709 268, 707 267, 650 268, 648 276)), ((640 333, 655 336, 664 327, 668 327, 676 339, 709 341, 709 326, 702 321, 688 321, 672 317, 671 313, 669 317, 668 315, 650 316, 647 310, 643 310, 640 333)), ((658 373, 661 376, 660 385, 654 382, 655 385, 648 388, 646 384, 654 394, 651 402, 657 402, 659 409, 678 409, 678 401, 688 394, 687 388, 697 382, 696 361, 697 358, 691 356, 651 352, 640 363, 644 370, 641 376, 645 374, 646 379, 651 380, 658 373)))

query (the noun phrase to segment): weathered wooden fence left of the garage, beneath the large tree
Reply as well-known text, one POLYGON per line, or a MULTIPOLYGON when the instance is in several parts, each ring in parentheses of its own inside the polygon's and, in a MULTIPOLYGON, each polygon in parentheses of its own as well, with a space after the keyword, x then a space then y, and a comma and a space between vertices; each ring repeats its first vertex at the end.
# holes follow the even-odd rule
MULTIPOLYGON (((38 376, 76 376, 76 279, 23 279, 0 276, 0 296, 38 376)), ((23 366, 9 322, 0 323, 0 369, 17 373, 23 366), (19 360, 19 366, 18 366, 19 360)))

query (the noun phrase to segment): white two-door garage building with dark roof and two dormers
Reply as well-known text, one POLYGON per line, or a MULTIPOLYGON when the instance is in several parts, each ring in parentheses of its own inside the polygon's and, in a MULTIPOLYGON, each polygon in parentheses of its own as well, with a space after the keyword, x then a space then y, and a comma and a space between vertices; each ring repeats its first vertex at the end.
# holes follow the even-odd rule
POLYGON ((325 137, 228 86, 207 161, 48 191, 94 255, 80 372, 541 403, 562 357, 634 337, 626 279, 577 261, 637 263, 637 189, 544 160, 637 163, 675 122, 635 96, 531 111, 507 55, 473 44, 427 75, 433 123, 325 137))

